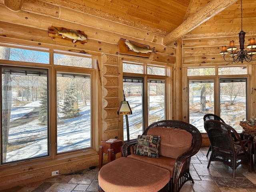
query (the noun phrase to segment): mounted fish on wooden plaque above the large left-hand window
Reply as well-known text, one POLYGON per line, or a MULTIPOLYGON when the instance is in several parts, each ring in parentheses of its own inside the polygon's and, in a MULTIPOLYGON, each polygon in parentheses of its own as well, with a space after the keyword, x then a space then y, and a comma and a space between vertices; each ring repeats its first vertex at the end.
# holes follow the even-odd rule
POLYGON ((52 38, 53 41, 66 42, 72 44, 85 44, 87 43, 87 35, 83 31, 67 29, 64 27, 52 26, 48 28, 48 36, 52 38))

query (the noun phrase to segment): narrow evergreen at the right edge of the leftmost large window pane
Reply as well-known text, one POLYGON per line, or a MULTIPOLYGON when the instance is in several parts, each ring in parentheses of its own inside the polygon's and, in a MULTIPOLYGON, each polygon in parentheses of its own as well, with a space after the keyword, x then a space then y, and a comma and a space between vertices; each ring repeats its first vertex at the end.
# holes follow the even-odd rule
POLYGON ((48 122, 48 118, 47 118, 47 114, 48 114, 48 95, 47 95, 47 85, 46 83, 44 83, 44 85, 42 86, 43 92, 41 93, 41 105, 40 105, 40 125, 47 125, 48 122))

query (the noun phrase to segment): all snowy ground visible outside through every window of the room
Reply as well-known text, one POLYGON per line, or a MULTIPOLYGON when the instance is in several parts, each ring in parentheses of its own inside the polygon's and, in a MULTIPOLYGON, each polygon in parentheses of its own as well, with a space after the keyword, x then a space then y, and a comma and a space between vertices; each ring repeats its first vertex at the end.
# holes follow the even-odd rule
MULTIPOLYGON (((194 102, 200 98, 195 97, 194 102)), ((213 99, 213 98, 212 98, 213 99)), ((221 103, 228 102, 228 98, 222 98, 224 100, 221 103)), ((130 139, 137 138, 138 134, 142 134, 142 102, 138 100, 138 97, 130 96, 126 97, 132 108, 132 115, 128 115, 130 139)), ((240 100, 244 102, 244 98, 237 98, 236 101, 240 100)), ((12 108, 11 111, 11 122, 16 120, 26 113, 31 112, 34 107, 39 107, 40 102, 30 102, 29 104, 12 108)), ((164 102, 160 97, 150 98, 150 123, 158 120, 164 120, 164 102)), ((242 128, 239 123, 235 124, 232 117, 239 115, 239 111, 235 111, 235 114, 230 114, 230 111, 225 108, 221 111, 221 117, 226 123, 231 126, 236 126, 238 129, 242 128)), ((199 130, 204 132, 203 128, 203 116, 204 114, 190 113, 191 123, 196 126, 199 130)), ((236 119, 237 120, 237 119, 236 119)), ((240 119, 242 120, 242 119, 240 119)), ((31 157, 47 156, 47 127, 38 125, 38 119, 29 122, 27 124, 20 125, 16 128, 10 128, 9 130, 9 143, 14 144, 13 148, 7 152, 7 162, 16 160, 22 160, 31 157)), ((126 121, 124 116, 124 139, 126 140, 126 121)), ((79 148, 90 147, 90 106, 80 107, 80 116, 77 118, 61 119, 58 120, 58 153, 66 152, 69 150, 76 150, 79 148), (89 123, 88 123, 89 122, 89 123)), ((50 133, 54 134, 54 133, 50 133)), ((55 145, 52 143, 52 145, 55 145)))

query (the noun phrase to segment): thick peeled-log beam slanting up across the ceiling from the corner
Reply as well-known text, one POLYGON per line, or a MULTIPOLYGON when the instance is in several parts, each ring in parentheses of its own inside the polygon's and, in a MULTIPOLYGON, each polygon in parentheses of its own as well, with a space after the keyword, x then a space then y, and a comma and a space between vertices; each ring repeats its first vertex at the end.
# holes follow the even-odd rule
POLYGON ((196 12, 193 16, 184 21, 180 26, 170 32, 163 38, 162 44, 167 46, 172 41, 182 37, 183 35, 190 32, 192 29, 196 28, 206 20, 209 20, 216 14, 220 13, 222 10, 228 6, 234 4, 237 0, 212 0, 206 4, 202 9, 196 12))

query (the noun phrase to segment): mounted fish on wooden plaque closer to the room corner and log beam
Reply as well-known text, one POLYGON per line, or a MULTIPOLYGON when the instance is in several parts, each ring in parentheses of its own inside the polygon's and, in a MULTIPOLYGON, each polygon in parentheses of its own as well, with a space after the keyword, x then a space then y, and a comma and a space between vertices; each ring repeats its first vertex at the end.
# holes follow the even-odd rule
POLYGON ((149 58, 151 52, 155 52, 155 48, 148 45, 139 44, 127 39, 120 39, 118 42, 118 50, 120 54, 133 55, 149 58))

